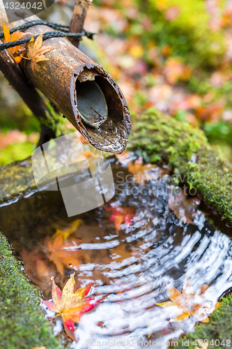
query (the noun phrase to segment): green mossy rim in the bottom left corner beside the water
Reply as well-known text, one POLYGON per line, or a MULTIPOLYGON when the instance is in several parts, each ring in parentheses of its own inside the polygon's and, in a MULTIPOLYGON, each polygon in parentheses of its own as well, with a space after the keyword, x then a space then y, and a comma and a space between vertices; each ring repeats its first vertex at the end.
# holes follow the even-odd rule
POLYGON ((22 265, 0 233, 0 336, 1 348, 63 348, 45 319, 38 288, 29 283, 22 265))

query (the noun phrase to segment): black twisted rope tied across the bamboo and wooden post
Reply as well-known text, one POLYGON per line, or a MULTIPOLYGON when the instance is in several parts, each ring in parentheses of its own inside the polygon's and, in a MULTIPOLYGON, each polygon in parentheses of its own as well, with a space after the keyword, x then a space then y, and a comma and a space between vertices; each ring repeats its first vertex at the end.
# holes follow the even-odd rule
MULTIPOLYGON (((30 27, 33 27, 38 24, 44 24, 49 27, 52 27, 56 29, 55 31, 47 31, 47 33, 42 35, 42 40, 47 40, 50 38, 60 38, 60 37, 66 37, 66 38, 77 38, 78 40, 82 40, 82 36, 87 36, 87 38, 93 40, 93 36, 97 35, 95 33, 90 33, 86 30, 83 30, 82 33, 69 33, 67 30, 69 26, 63 25, 63 24, 56 24, 48 21, 43 20, 36 20, 31 22, 26 22, 25 24, 20 25, 19 27, 15 27, 10 30, 10 34, 13 34, 15 31, 27 29, 30 27)), ((34 39, 38 38, 39 35, 35 36, 34 39)), ((0 32, 0 40, 4 38, 4 32, 0 32)), ((16 41, 10 41, 9 43, 3 43, 0 45, 0 51, 7 50, 8 48, 24 45, 24 43, 29 43, 31 38, 22 39, 22 40, 16 40, 16 41)))

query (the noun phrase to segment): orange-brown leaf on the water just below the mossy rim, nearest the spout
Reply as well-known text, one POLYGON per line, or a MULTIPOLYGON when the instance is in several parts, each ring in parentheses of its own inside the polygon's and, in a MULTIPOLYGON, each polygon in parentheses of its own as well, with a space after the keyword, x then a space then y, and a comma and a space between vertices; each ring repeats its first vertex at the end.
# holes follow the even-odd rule
POLYGON ((151 181, 153 179, 159 179, 163 174, 167 172, 164 168, 157 168, 155 165, 148 163, 143 165, 143 158, 139 156, 134 164, 128 163, 127 168, 131 174, 134 174, 133 181, 144 186, 145 181, 151 181), (157 169, 154 171, 153 169, 157 169))

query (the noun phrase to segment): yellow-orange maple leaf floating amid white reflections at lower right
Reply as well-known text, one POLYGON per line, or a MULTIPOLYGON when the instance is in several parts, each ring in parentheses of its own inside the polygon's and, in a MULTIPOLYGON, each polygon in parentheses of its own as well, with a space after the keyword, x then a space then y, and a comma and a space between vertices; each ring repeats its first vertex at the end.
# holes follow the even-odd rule
POLYGON ((204 297, 204 292, 208 290, 209 286, 204 284, 201 285, 199 290, 194 294, 192 284, 190 283, 190 278, 186 276, 185 284, 183 286, 182 294, 176 288, 171 288, 167 290, 169 299, 172 302, 156 303, 157 306, 162 306, 162 308, 169 308, 169 306, 176 306, 180 315, 171 319, 171 322, 182 322, 185 318, 193 315, 197 320, 201 322, 208 322, 208 315, 212 313, 221 304, 217 302, 213 306, 212 302, 207 305, 208 300, 204 297), (201 297, 201 304, 197 303, 201 297), (204 305, 206 304, 206 305, 204 305))

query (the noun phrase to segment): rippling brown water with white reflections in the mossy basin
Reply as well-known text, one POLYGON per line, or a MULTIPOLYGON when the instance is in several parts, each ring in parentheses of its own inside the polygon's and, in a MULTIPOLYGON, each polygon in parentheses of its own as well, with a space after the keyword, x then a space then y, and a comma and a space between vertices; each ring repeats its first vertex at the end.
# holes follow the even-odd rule
MULTIPOLYGON (((195 292, 203 283, 210 285, 207 298, 215 304, 232 287, 231 237, 215 228, 212 216, 201 210, 195 225, 180 221, 168 207, 174 186, 167 176, 139 186, 126 177, 125 166, 115 158, 108 161, 116 183, 111 204, 68 218, 59 192, 37 192, 2 206, 0 229, 24 259, 26 272, 43 297, 51 297, 53 276, 62 287, 73 272, 77 286, 94 282, 93 295, 107 295, 82 316, 73 348, 91 348, 92 342, 99 342, 98 348, 118 348, 120 342, 124 348, 141 348, 146 341, 167 348, 167 341, 192 330, 197 320, 170 322, 170 309, 155 303, 169 300, 167 287, 182 290, 187 274, 195 292), (130 207, 131 225, 122 223, 117 232, 114 221, 109 221, 110 205, 125 212, 130 207), (72 234, 51 252, 57 230, 72 234)), ((61 320, 53 323, 54 333, 61 332, 61 320)))

